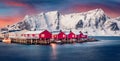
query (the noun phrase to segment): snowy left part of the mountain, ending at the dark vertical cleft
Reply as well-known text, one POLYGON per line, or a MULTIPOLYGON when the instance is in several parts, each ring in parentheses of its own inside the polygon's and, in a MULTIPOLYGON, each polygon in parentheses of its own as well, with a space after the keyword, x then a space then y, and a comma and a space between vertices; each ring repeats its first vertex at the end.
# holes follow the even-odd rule
POLYGON ((58 26, 58 12, 52 11, 48 13, 40 13, 37 15, 28 16, 26 15, 25 18, 8 27, 9 30, 40 30, 40 29, 48 29, 54 30, 58 26))

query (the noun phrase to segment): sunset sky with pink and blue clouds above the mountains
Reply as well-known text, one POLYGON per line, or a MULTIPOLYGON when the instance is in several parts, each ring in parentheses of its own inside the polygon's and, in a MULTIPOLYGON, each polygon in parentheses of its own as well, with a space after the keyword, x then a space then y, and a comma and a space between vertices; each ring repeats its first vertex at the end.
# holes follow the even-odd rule
POLYGON ((25 15, 56 10, 80 13, 97 8, 112 18, 120 16, 120 0, 0 0, 0 28, 19 22, 25 15))

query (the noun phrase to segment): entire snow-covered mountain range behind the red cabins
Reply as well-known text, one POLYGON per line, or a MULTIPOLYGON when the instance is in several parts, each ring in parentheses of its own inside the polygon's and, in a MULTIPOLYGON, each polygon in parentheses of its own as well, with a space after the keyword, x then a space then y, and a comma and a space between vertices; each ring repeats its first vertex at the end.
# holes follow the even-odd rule
POLYGON ((102 9, 88 12, 62 15, 58 11, 26 15, 17 24, 8 27, 9 30, 73 30, 82 31, 92 36, 120 35, 120 18, 111 19, 102 9), (109 33, 110 32, 110 33, 109 33), (116 33, 117 32, 117 33, 116 33))

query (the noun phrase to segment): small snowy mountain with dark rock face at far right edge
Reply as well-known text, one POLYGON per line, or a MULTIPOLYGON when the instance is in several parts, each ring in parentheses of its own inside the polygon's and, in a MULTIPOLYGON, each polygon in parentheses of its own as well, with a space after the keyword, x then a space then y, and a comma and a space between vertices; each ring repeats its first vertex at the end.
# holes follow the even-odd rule
POLYGON ((107 34, 120 36, 120 17, 107 20, 104 26, 107 34))

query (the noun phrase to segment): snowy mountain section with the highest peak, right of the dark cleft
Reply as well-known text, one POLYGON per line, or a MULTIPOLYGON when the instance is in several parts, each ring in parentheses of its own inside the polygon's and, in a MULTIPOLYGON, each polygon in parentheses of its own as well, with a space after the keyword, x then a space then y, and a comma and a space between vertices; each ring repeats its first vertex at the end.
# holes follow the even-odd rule
POLYGON ((109 19, 102 9, 95 9, 84 13, 62 15, 61 23, 64 28, 101 28, 104 22, 109 19))

